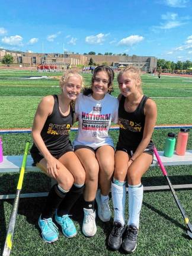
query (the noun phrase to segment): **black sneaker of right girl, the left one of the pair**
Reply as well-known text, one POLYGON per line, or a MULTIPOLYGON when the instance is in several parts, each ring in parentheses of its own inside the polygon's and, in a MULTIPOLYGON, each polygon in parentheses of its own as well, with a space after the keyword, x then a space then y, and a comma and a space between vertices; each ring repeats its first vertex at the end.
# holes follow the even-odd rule
POLYGON ((113 229, 108 236, 108 246, 111 249, 118 250, 120 248, 124 231, 125 226, 121 225, 120 222, 113 223, 113 229))

